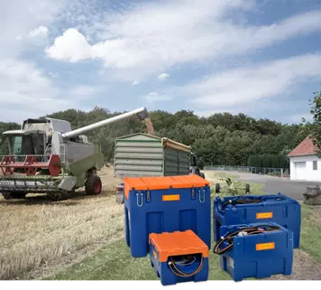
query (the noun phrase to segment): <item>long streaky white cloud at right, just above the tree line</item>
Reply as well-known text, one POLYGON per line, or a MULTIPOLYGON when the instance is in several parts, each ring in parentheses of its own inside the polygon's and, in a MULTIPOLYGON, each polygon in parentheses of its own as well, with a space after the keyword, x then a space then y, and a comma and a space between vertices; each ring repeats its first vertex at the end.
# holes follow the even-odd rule
POLYGON ((217 108, 282 96, 321 77, 321 54, 308 54, 216 73, 178 89, 199 108, 217 108))

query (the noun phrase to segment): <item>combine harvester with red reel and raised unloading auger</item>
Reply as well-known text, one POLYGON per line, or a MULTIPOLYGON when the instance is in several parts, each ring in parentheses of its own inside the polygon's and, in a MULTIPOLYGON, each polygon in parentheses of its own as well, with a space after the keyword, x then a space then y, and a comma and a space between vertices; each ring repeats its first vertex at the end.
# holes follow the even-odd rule
POLYGON ((146 108, 76 130, 67 121, 49 117, 23 121, 21 130, 3 133, 10 154, 0 157, 0 192, 6 200, 46 193, 53 201, 68 199, 83 186, 88 195, 99 194, 102 182, 96 171, 104 166, 104 156, 100 146, 89 143, 82 134, 130 117, 151 126, 146 108))

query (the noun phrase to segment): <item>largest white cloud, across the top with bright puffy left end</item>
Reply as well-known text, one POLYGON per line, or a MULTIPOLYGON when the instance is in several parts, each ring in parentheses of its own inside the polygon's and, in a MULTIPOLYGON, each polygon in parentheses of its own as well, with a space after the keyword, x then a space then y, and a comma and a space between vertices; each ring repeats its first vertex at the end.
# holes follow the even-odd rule
POLYGON ((101 59, 115 77, 133 81, 133 75, 142 79, 180 63, 222 61, 321 30, 321 11, 271 25, 238 21, 237 15, 244 18, 242 12, 254 9, 254 4, 204 0, 199 5, 180 0, 167 5, 144 4, 118 14, 108 12, 83 30, 95 31, 101 42, 89 44, 82 33, 70 29, 56 39, 47 54, 60 61, 101 59))

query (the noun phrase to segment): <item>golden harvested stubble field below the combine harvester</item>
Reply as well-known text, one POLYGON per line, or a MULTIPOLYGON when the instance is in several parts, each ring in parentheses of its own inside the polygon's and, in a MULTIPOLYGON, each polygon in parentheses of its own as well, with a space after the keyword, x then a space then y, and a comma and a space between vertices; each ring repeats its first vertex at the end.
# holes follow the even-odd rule
POLYGON ((32 275, 41 276, 66 257, 75 260, 124 236, 124 209, 115 202, 114 190, 121 180, 110 168, 99 175, 103 192, 98 196, 80 191, 69 201, 32 194, 25 200, 0 197, 0 281, 29 280, 28 272, 37 269, 32 275))

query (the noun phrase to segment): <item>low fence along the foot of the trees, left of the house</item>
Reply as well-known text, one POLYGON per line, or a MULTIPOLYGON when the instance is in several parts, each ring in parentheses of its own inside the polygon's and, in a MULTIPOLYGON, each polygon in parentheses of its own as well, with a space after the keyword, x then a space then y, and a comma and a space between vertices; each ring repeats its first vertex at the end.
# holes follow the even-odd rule
POLYGON ((233 171, 233 172, 238 172, 238 173, 253 173, 253 174, 280 176, 280 177, 289 176, 289 169, 288 168, 266 168, 266 167, 251 167, 251 166, 216 165, 216 166, 204 166, 204 170, 233 171))

